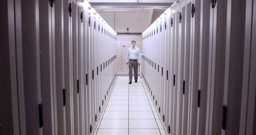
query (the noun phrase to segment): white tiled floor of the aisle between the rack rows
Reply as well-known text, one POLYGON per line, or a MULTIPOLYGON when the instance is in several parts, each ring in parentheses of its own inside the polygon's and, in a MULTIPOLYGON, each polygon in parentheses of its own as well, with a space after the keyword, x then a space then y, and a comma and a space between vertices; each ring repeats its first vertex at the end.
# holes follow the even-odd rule
POLYGON ((95 135, 166 135, 144 87, 140 78, 129 85, 118 77, 95 135))

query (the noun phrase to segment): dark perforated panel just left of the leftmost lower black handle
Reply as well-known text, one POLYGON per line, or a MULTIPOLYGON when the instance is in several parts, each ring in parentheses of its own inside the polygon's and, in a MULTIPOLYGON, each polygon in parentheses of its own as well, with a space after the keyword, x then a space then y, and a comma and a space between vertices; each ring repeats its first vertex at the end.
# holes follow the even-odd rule
POLYGON ((37 77, 36 77, 36 44, 35 44, 35 8, 34 0, 21 1, 22 16, 22 55, 24 99, 26 113, 26 134, 39 134, 37 77))

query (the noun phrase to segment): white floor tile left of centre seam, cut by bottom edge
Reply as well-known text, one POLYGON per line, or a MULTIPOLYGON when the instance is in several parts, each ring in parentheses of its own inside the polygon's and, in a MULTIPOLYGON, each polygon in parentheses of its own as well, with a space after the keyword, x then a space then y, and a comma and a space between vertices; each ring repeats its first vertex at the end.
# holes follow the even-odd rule
POLYGON ((98 129, 96 135, 128 135, 128 129, 98 129))

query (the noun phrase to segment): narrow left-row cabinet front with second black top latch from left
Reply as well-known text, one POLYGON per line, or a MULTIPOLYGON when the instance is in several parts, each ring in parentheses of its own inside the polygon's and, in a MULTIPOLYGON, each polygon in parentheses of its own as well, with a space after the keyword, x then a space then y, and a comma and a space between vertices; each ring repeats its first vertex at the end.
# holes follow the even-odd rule
MULTIPOLYGON (((74 135, 74 84, 72 57, 72 5, 74 2, 65 0, 63 3, 64 18, 64 83, 66 91, 66 134, 74 135), (67 8, 68 7, 68 8, 67 8), (64 10, 65 9, 65 10, 64 10)), ((74 16, 74 15, 73 15, 74 16)), ((75 17, 75 16, 74 16, 75 17)), ((75 39, 74 39, 75 40, 75 39)))

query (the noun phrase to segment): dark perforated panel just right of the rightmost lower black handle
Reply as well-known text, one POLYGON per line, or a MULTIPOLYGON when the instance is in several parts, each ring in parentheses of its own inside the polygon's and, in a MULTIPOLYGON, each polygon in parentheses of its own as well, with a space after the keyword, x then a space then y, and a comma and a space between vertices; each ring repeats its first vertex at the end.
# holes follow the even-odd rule
POLYGON ((246 0, 232 0, 226 135, 239 135, 246 0))

